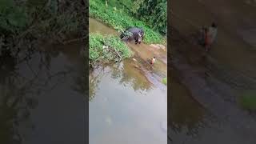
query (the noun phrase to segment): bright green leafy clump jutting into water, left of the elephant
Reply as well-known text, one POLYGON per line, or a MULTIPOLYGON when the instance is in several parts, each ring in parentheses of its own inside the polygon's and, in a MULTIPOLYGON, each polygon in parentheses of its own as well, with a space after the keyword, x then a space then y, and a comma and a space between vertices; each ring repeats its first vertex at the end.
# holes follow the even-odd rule
POLYGON ((133 53, 129 47, 117 36, 89 35, 89 58, 91 65, 95 62, 118 62, 124 58, 130 58, 132 55, 133 53))

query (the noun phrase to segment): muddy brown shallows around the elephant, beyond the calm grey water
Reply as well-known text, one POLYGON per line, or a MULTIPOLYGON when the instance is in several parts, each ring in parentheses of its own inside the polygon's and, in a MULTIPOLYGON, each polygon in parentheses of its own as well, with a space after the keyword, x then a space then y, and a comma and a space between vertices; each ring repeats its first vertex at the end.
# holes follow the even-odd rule
MULTIPOLYGON (((97 20, 90 18, 90 33, 99 34, 114 34, 118 35, 118 32, 110 27, 98 22, 97 20)), ((134 67, 136 67, 141 73, 143 73, 149 82, 155 86, 160 86, 162 89, 166 89, 162 84, 162 78, 167 76, 167 56, 166 46, 162 45, 146 45, 144 43, 135 45, 134 42, 127 42, 127 46, 130 50, 134 51, 134 67), (157 62, 154 66, 150 65, 150 58, 156 57, 157 62)))

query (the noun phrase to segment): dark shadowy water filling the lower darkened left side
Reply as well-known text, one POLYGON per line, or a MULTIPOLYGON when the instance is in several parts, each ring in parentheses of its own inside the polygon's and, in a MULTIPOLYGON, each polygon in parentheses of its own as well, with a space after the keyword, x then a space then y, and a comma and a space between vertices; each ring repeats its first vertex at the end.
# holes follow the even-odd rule
POLYGON ((80 48, 45 45, 22 62, 1 59, 0 143, 84 143, 80 48))

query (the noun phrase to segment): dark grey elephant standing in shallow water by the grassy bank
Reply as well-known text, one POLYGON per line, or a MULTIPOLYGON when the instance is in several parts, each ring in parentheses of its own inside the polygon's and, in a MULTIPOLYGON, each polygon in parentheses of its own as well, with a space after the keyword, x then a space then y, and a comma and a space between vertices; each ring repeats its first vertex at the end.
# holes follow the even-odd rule
POLYGON ((120 38, 124 41, 135 41, 135 44, 141 43, 144 38, 144 31, 138 27, 130 27, 120 35, 120 38))

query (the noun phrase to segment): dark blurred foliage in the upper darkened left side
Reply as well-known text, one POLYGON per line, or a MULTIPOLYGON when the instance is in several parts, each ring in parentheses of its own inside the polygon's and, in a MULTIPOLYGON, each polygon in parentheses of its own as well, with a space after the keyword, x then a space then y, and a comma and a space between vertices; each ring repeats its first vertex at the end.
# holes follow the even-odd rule
POLYGON ((0 56, 34 50, 42 39, 63 42, 69 36, 82 37, 85 13, 80 0, 0 0, 0 56))

